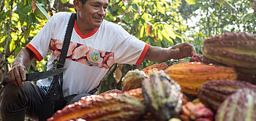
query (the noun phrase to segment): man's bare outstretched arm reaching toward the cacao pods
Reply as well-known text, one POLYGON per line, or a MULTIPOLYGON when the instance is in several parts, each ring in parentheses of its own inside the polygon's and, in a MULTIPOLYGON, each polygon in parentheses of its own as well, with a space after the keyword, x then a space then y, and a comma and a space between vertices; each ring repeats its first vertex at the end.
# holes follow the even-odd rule
POLYGON ((170 59, 181 59, 195 55, 195 47, 188 42, 177 44, 173 47, 162 48, 153 47, 148 48, 145 59, 157 63, 169 61, 170 59))

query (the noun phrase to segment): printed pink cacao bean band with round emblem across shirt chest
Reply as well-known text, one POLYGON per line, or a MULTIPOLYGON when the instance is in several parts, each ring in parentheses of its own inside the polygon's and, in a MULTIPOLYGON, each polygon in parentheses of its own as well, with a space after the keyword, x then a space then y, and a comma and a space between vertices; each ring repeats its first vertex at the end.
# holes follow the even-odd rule
MULTIPOLYGON (((63 41, 61 40, 51 39, 50 52, 56 57, 59 57, 61 55, 62 44, 63 41)), ((70 42, 66 59, 88 66, 109 69, 114 63, 114 53, 96 50, 83 44, 70 42)))

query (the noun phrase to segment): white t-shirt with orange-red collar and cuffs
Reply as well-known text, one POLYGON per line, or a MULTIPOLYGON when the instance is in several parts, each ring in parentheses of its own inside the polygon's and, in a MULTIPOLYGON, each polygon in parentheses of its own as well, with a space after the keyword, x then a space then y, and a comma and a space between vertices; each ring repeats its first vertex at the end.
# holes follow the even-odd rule
MULTIPOLYGON (((50 51, 48 70, 59 60, 67 23, 72 13, 59 12, 50 17, 41 31, 26 45, 41 61, 50 51)), ((99 85, 113 63, 140 65, 149 45, 124 28, 103 20, 99 28, 83 35, 75 26, 64 67, 64 96, 88 93, 99 85)), ((52 79, 37 81, 39 87, 49 87, 52 79)))

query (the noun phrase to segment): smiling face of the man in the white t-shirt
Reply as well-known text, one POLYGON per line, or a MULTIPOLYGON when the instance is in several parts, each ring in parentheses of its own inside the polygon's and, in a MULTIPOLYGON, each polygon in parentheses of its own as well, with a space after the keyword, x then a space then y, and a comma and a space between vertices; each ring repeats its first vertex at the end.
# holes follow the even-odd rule
POLYGON ((107 9, 108 0, 87 0, 80 9, 79 17, 90 28, 97 28, 107 15, 107 9))

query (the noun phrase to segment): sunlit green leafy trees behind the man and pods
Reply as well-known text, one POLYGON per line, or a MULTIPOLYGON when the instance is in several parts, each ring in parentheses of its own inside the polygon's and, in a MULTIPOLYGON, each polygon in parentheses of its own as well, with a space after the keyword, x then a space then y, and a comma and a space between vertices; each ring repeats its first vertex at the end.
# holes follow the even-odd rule
MULTIPOLYGON (((105 17, 129 34, 158 47, 190 42, 202 54, 203 41, 225 32, 256 33, 255 0, 110 0, 105 17)), ((75 12, 68 0, 1 0, 0 2, 0 79, 7 75, 18 52, 56 12, 75 12)), ((172 64, 189 58, 170 60, 172 64)), ((28 72, 45 71, 48 56, 31 61, 28 72)), ((114 64, 102 79, 99 93, 121 88, 121 77, 140 66, 114 64)))

